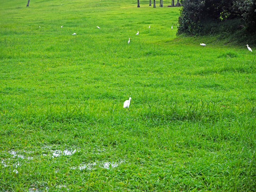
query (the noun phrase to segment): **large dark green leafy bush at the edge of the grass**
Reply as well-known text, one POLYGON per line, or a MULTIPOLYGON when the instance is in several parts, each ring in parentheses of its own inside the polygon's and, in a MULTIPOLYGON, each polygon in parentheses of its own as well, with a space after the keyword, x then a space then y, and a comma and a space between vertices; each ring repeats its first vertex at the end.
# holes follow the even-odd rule
POLYGON ((255 33, 256 0, 182 0, 181 3, 178 34, 207 34, 212 31, 211 23, 224 22, 235 23, 237 30, 255 33))

